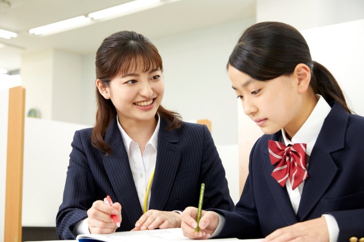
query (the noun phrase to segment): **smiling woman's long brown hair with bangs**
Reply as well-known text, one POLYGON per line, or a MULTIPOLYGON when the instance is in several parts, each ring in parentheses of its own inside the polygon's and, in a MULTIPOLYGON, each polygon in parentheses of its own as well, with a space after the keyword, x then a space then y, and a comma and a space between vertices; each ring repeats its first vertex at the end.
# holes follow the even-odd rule
MULTIPOLYGON (((160 69, 163 71, 162 59, 156 47, 148 38, 133 31, 119 31, 106 37, 96 52, 96 79, 108 86, 116 75, 133 71, 146 72, 160 69)), ((96 92, 96 123, 92 130, 91 144, 93 147, 110 154, 111 147, 104 141, 104 136, 111 120, 116 117, 116 109, 110 99, 105 99, 96 92)), ((182 125, 178 113, 166 110, 161 105, 157 113, 160 118, 170 122, 167 129, 182 125)))

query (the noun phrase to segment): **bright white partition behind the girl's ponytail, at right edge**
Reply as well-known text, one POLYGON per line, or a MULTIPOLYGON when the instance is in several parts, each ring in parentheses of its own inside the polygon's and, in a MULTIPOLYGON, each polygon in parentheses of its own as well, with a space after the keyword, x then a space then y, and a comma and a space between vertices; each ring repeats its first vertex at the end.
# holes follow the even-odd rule
MULTIPOLYGON (((364 2, 364 1, 363 1, 364 2)), ((364 116, 364 19, 301 31, 312 59, 324 65, 336 78, 348 106, 364 116)))

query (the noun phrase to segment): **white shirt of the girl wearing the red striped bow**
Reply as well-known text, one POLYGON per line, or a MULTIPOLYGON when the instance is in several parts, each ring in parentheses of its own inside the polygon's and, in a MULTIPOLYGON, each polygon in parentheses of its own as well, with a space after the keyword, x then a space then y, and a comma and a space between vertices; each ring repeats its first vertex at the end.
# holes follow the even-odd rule
MULTIPOLYGON (((304 122, 304 124, 300 127, 300 129, 292 137, 291 140, 289 140, 286 137, 284 130, 283 129, 281 130, 282 132, 281 142, 284 143, 284 145, 288 144, 293 145, 295 143, 306 144, 306 154, 307 154, 306 167, 309 165, 309 156, 311 155, 313 146, 316 143, 316 139, 321 130, 323 122, 331 110, 330 105, 328 105, 328 103, 325 101, 325 99, 323 99, 321 95, 316 95, 316 96, 318 98, 316 106, 312 110, 307 120, 304 122)), ((309 179, 309 173, 307 179, 309 179)), ((298 187, 292 190, 291 184, 289 183, 289 179, 287 179, 285 183, 285 188, 287 189, 287 193, 295 214, 297 214, 298 211, 298 206, 301 200, 303 186, 304 186, 304 181, 301 184, 299 184, 298 187)), ((329 241, 336 242, 339 233, 336 220, 331 215, 322 215, 322 216, 326 219, 328 233, 329 233, 329 241)), ((212 234, 212 236, 217 236, 222 230, 223 227, 222 222, 224 222, 224 218, 223 221, 221 221, 221 217, 223 216, 219 215, 220 222, 215 232, 212 234)))

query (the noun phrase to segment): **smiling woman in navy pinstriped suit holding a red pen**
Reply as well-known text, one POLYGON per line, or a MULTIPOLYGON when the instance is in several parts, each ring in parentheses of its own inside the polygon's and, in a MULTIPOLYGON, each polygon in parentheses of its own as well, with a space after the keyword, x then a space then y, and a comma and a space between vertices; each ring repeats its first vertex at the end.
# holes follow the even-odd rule
POLYGON ((181 211, 198 204, 201 183, 206 208, 233 210, 207 127, 182 122, 160 105, 156 47, 136 32, 116 32, 101 43, 95 66, 96 124, 73 137, 56 216, 59 239, 180 227, 181 211), (103 202, 107 195, 112 206, 103 202))

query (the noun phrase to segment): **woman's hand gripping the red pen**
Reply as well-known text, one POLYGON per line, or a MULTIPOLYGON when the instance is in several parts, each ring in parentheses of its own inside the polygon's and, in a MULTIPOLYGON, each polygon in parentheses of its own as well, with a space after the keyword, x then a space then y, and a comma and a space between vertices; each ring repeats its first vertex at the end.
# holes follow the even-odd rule
POLYGON ((89 232, 91 234, 110 234, 115 232, 117 225, 112 219, 112 215, 121 223, 121 205, 119 203, 112 203, 109 206, 101 200, 93 202, 92 207, 87 211, 89 232))

